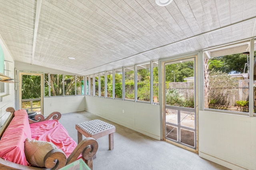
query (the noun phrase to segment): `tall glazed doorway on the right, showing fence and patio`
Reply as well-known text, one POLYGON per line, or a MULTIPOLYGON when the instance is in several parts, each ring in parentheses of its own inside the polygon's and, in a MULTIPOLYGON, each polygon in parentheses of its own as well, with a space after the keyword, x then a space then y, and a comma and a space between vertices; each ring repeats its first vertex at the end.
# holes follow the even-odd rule
POLYGON ((162 68, 164 140, 197 152, 195 57, 164 61, 162 68))

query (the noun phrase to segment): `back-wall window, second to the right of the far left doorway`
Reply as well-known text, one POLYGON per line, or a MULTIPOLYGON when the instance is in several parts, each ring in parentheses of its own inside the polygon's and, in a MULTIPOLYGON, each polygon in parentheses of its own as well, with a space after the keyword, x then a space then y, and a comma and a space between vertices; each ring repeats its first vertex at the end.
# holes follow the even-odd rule
POLYGON ((63 96, 63 75, 50 74, 51 96, 63 96))

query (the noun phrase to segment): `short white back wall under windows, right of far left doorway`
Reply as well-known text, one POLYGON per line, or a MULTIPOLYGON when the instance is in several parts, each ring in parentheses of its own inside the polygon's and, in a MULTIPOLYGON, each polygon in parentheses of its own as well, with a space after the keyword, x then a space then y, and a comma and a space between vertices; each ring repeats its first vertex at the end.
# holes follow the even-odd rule
POLYGON ((60 113, 71 113, 85 110, 84 96, 54 96, 44 98, 44 116, 53 111, 60 113))

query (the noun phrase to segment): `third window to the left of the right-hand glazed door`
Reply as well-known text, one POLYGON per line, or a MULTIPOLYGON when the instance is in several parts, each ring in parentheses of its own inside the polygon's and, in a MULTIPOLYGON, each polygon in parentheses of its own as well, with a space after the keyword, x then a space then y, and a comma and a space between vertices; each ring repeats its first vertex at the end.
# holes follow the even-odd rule
POLYGON ((125 99, 134 100, 134 66, 124 68, 125 99))

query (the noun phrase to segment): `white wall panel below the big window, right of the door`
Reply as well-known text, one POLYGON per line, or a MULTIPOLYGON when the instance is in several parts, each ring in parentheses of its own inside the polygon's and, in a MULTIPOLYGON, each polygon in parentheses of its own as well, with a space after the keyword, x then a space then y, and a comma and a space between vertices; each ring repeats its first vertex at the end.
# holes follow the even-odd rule
POLYGON ((231 169, 256 169, 256 117, 199 111, 199 156, 231 169))

